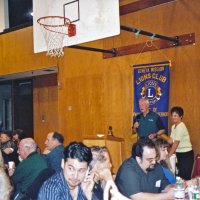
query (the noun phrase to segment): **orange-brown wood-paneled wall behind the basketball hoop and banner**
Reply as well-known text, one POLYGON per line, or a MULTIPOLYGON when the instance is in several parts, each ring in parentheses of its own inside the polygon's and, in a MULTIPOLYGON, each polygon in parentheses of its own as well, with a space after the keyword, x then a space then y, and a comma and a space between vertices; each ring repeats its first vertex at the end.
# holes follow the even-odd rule
MULTIPOLYGON (((130 2, 134 1, 121 0, 120 4, 130 2)), ((192 0, 192 3, 180 0, 121 16, 121 25, 166 36, 195 32, 196 44, 111 59, 103 59, 101 53, 68 48, 65 48, 65 56, 59 59, 46 57, 45 53, 34 54, 32 27, 0 35, 0 74, 58 66, 58 101, 57 107, 55 104, 56 108, 51 109, 57 110, 58 125, 55 126, 65 135, 66 143, 107 133, 111 125, 114 134, 125 139, 124 153, 128 157, 134 142, 130 139, 133 110, 133 69, 130 65, 172 60, 169 106, 183 106, 184 121, 195 152, 199 153, 199 7, 199 0, 192 0)), ((121 31, 119 36, 84 45, 110 49, 148 39, 146 36, 135 38, 121 31)), ((52 112, 50 110, 48 112, 52 112)), ((35 109, 35 119, 38 112, 35 109)), ((35 121, 38 142, 46 137, 46 132, 40 132, 42 127, 41 122, 35 121)))

